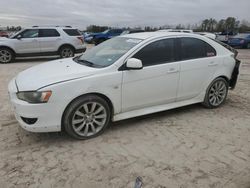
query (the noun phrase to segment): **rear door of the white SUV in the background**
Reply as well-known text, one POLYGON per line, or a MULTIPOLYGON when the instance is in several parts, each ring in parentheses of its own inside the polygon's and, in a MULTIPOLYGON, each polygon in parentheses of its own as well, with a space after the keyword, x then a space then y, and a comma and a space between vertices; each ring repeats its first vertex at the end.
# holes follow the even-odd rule
POLYGON ((56 52, 61 44, 61 36, 56 29, 39 29, 41 52, 56 52))

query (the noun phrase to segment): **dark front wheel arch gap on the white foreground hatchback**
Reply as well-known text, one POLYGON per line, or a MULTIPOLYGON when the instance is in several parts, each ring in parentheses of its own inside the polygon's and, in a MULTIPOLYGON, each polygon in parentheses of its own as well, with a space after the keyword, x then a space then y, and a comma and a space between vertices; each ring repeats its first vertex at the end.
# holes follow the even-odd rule
POLYGON ((70 106, 70 104, 72 104, 75 100, 77 100, 78 98, 80 97, 84 97, 84 96, 88 96, 88 95, 96 95, 102 99, 104 99, 107 103, 108 103, 108 106, 110 108, 110 114, 111 114, 111 120, 113 118, 113 115, 114 115, 114 105, 112 103, 112 101, 110 100, 109 97, 107 97, 106 95, 102 94, 102 93, 97 93, 97 92, 91 92, 91 93, 86 93, 86 94, 83 94, 83 95, 80 95, 78 97, 75 97, 74 99, 72 99, 68 104, 67 106, 65 107, 65 109, 63 110, 63 114, 61 116, 61 130, 64 130, 64 127, 62 126, 63 125, 63 117, 66 113, 66 110, 68 109, 68 107, 70 106))

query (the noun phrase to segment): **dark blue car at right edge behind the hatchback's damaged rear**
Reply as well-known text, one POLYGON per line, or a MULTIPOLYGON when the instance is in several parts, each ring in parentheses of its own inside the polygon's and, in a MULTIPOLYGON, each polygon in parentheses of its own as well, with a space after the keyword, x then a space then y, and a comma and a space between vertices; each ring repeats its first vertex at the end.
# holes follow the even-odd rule
POLYGON ((250 49, 250 33, 241 33, 228 40, 228 44, 232 47, 250 49))

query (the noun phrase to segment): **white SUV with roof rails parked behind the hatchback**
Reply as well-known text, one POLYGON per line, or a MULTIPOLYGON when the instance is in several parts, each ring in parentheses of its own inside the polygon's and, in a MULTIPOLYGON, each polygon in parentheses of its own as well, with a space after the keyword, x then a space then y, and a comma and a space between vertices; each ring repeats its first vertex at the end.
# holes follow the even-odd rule
POLYGON ((0 63, 10 63, 15 57, 60 55, 73 57, 86 50, 83 36, 71 27, 31 27, 10 38, 0 39, 0 63))

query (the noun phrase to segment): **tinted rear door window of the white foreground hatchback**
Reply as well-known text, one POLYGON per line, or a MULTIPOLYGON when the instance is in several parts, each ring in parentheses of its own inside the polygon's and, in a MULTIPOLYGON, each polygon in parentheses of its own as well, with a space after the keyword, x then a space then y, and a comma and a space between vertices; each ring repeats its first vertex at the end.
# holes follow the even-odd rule
POLYGON ((215 49, 206 42, 196 38, 181 38, 181 59, 197 59, 216 56, 215 49))

